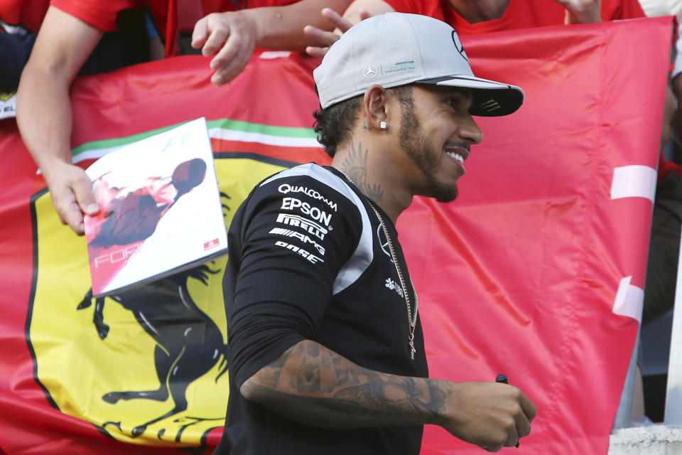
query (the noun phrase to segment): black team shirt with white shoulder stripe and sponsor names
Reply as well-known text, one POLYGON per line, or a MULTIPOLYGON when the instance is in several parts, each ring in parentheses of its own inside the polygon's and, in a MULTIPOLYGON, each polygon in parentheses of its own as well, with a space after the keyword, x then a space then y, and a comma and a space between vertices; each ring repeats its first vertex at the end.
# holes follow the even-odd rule
MULTIPOLYGON (((376 207, 399 258, 413 314, 397 232, 376 207)), ((403 290, 367 198, 333 168, 296 166, 254 188, 234 215, 228 242, 223 289, 230 390, 215 454, 418 454, 423 425, 311 427, 239 393, 251 375, 304 339, 371 370, 428 376, 419 320, 414 360, 410 357, 403 290)))

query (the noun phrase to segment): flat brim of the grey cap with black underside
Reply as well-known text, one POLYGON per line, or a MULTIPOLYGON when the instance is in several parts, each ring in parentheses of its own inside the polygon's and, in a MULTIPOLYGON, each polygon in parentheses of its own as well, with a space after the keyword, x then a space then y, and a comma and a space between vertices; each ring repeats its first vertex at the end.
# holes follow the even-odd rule
POLYGON ((503 84, 481 77, 457 75, 417 80, 416 84, 446 85, 472 89, 469 112, 480 117, 499 117, 516 112, 524 104, 524 91, 516 85, 503 84))

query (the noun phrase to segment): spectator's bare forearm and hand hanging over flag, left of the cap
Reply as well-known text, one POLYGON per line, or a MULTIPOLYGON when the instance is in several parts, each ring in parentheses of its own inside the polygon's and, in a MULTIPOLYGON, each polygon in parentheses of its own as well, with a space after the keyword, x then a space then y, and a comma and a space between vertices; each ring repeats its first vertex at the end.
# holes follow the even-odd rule
POLYGON ((192 46, 202 55, 215 54, 210 68, 211 82, 222 85, 237 77, 249 62, 254 48, 305 50, 314 44, 303 33, 313 21, 319 28, 331 29, 320 16, 327 6, 343 12, 351 0, 301 0, 287 6, 268 6, 225 13, 213 13, 200 19, 192 34, 192 46))

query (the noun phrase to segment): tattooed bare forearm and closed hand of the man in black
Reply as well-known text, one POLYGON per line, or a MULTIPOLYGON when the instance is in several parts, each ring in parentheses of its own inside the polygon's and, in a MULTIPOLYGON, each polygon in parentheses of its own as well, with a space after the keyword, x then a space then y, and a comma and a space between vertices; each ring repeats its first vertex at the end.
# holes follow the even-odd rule
POLYGON ((362 368, 310 340, 298 342, 240 387, 244 398, 316 427, 438 424, 488 451, 531 431, 536 407, 516 387, 453 383, 362 368))

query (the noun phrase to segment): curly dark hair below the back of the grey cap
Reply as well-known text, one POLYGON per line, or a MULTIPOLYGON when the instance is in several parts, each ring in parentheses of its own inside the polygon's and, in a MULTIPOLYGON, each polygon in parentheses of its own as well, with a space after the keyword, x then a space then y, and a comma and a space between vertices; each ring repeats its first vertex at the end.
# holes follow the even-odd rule
MULTIPOLYGON (((412 85, 399 85, 391 89, 402 107, 413 109, 412 85)), ((317 87, 315 87, 317 92, 317 87)), ((313 112, 315 117, 315 132, 318 134, 318 142, 325 147, 329 156, 334 158, 336 148, 350 138, 359 110, 362 95, 348 100, 337 102, 335 105, 313 112)))

